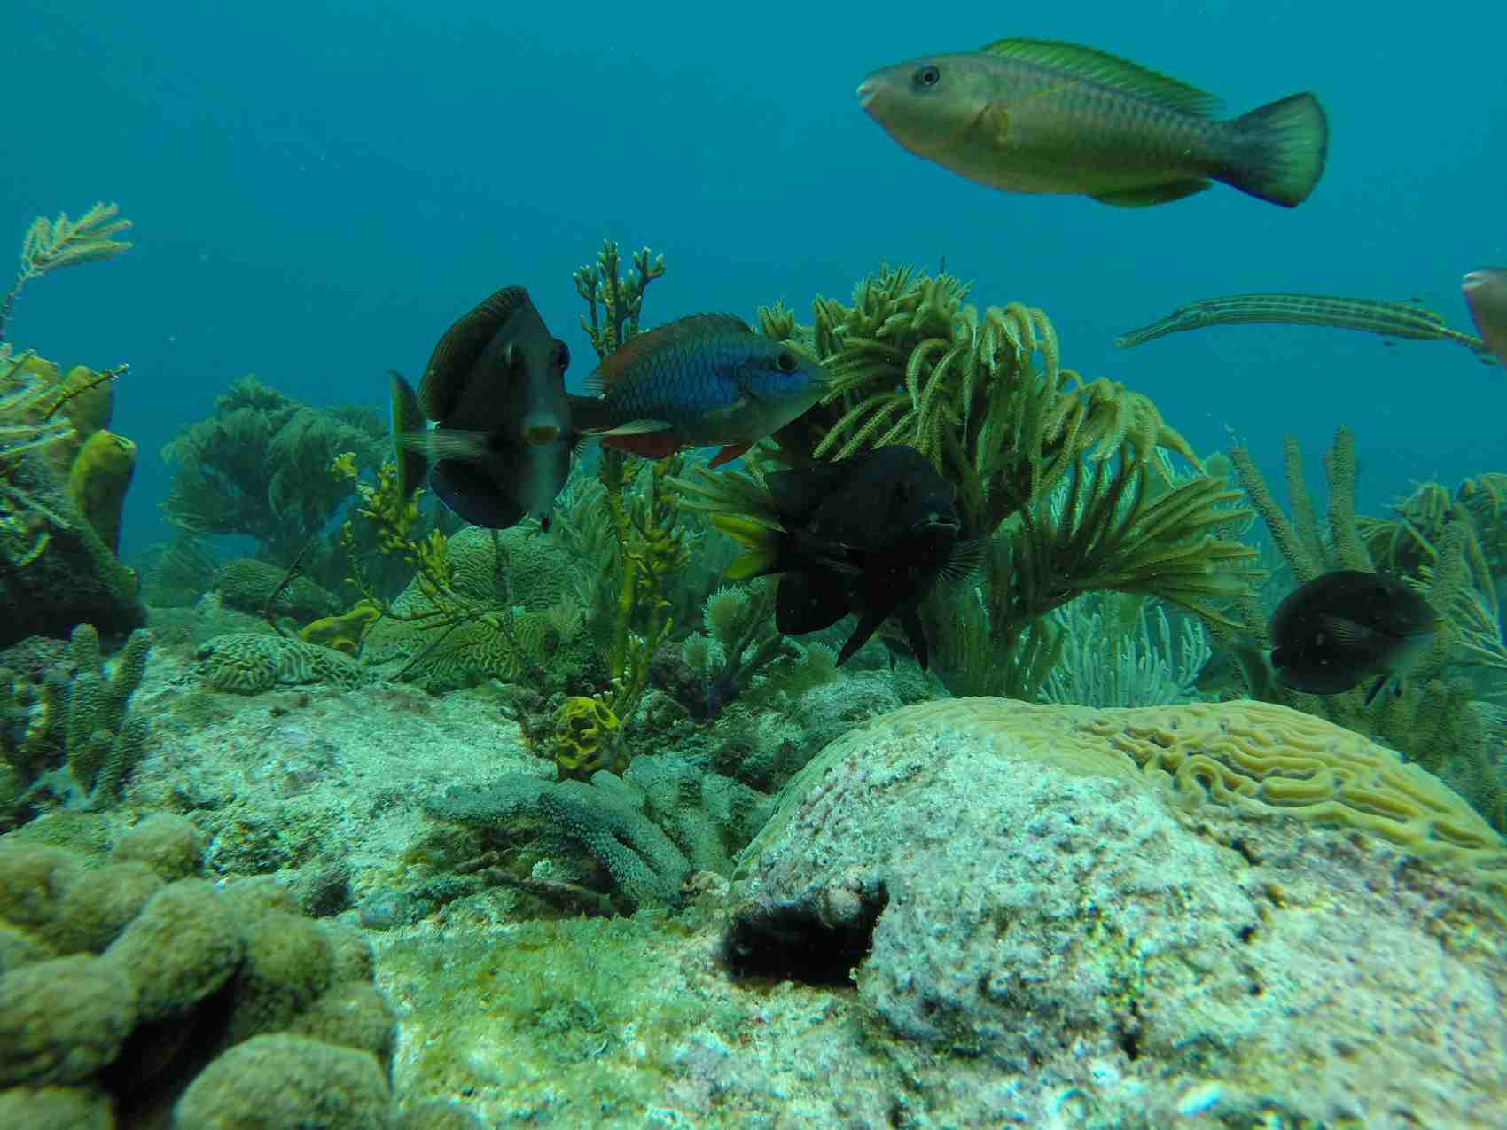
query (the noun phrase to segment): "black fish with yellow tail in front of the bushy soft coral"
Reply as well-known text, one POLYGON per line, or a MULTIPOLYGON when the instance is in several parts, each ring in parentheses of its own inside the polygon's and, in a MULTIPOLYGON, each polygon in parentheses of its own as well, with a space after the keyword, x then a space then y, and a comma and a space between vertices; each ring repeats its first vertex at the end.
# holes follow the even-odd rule
POLYGON ((983 550, 978 541, 960 539, 952 484, 916 449, 891 444, 775 472, 766 485, 781 530, 713 518, 749 548, 728 576, 785 574, 775 597, 775 627, 787 636, 820 631, 856 613, 857 627, 838 663, 894 616, 924 670, 927 637, 916 609, 942 577, 967 576, 983 550))

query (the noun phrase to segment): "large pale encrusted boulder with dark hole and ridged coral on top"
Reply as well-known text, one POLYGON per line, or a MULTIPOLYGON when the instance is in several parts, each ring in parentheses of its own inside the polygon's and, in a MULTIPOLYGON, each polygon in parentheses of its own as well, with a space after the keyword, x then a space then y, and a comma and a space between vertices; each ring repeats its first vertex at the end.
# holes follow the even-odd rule
POLYGON ((955 699, 797 774, 723 957, 856 984, 918 1125, 1501 1127, 1504 877, 1307 714, 955 699))

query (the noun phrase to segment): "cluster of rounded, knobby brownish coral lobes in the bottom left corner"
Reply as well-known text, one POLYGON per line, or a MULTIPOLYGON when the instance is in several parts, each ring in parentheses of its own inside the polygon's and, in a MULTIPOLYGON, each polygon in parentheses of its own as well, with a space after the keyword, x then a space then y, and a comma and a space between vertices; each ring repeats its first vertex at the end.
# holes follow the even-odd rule
MULTIPOLYGON (((190 821, 155 820, 172 869, 197 872, 190 821)), ((175 1104, 185 1130, 386 1125, 393 1020, 360 936, 303 918, 276 884, 164 881, 142 839, 102 859, 0 844, 5 1124, 62 1125, 62 1098, 98 1095, 104 1121, 78 1125, 166 1124, 175 1104)))

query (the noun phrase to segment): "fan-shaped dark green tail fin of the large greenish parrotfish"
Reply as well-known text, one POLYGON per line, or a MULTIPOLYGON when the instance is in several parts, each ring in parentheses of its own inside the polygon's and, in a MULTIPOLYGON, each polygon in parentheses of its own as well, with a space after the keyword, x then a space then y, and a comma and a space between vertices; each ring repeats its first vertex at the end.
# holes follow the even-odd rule
POLYGON ((1329 154, 1329 119, 1317 98, 1291 95, 1240 115, 1230 125, 1236 151, 1221 181, 1284 208, 1308 199, 1329 154))

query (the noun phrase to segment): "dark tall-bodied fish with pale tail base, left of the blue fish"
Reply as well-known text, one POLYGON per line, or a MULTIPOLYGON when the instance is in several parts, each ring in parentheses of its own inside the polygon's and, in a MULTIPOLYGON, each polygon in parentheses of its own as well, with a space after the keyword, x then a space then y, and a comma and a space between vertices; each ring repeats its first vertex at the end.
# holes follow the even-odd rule
POLYGON ((404 497, 428 475, 440 502, 473 526, 503 529, 533 514, 549 529, 576 440, 568 365, 529 292, 506 286, 445 331, 417 393, 393 372, 404 497))

